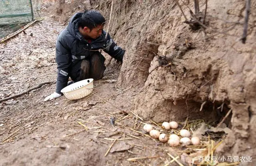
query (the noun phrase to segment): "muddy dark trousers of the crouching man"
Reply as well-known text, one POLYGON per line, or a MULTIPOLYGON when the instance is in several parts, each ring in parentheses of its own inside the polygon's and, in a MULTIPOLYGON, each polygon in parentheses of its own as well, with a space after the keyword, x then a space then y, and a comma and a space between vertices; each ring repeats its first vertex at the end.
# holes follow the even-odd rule
POLYGON ((71 64, 70 78, 74 81, 93 78, 94 80, 102 79, 106 69, 105 57, 98 51, 92 53, 88 58, 75 60, 71 64))

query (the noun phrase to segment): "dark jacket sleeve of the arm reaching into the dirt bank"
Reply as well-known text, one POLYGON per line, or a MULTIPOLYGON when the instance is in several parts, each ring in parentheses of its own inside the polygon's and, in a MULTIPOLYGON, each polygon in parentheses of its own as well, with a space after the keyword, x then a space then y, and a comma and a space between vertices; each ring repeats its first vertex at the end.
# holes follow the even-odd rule
POLYGON ((123 57, 125 50, 119 47, 114 40, 108 34, 106 38, 105 48, 103 49, 108 55, 112 56, 114 59, 123 62, 123 57))

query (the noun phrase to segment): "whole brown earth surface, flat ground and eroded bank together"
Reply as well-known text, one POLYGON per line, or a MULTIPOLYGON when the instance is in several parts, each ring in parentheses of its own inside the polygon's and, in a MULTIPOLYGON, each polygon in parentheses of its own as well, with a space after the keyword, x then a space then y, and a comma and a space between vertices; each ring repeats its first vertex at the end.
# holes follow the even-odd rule
MULTIPOLYGON (((94 8, 109 19, 109 1, 44 1, 45 20, 0 45, 0 98, 56 80, 56 37, 74 12, 94 8)), ((199 2, 204 13, 206 3, 199 2)), ((194 2, 180 3, 189 18, 194 2)), ((209 156, 208 149, 219 156, 251 156, 253 162, 240 166, 254 165, 256 2, 251 3, 246 44, 240 41, 244 1, 208 2, 205 27, 197 30, 184 23, 175 2, 113 4, 110 35, 126 49, 122 66, 104 55, 105 77, 77 101, 62 96, 44 102, 55 90, 52 83, 1 102, 0 166, 178 165, 169 154, 191 165, 191 157, 209 156), (210 131, 223 119, 221 133, 210 131), (150 123, 166 134, 178 132, 158 126, 173 120, 178 129, 194 133, 205 122, 202 144, 171 148, 142 131, 143 123, 150 123)))

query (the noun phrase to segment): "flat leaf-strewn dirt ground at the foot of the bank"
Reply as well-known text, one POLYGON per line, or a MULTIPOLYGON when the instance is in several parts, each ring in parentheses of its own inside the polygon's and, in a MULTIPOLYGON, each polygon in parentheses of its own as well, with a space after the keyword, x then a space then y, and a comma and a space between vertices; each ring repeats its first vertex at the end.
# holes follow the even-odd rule
MULTIPOLYGON (((55 40, 63 28, 49 20, 38 22, 26 34, 1 44, 1 98, 55 81, 55 40)), ((130 112, 138 89, 116 86, 118 71, 110 64, 105 77, 94 81, 95 95, 78 101, 62 96, 44 102, 55 90, 52 84, 2 102, 0 165, 138 165, 140 161, 126 160, 137 156, 162 156, 142 161, 155 165, 170 160, 169 146, 130 130, 142 131, 140 120, 130 112), (115 118, 115 126, 110 118, 115 118), (104 157, 115 138, 125 139, 117 140, 104 157)))

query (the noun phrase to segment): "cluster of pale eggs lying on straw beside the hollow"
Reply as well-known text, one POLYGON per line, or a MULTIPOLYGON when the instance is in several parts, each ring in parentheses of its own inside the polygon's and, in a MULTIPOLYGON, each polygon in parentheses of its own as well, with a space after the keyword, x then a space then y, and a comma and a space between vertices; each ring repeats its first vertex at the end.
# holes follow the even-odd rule
MULTIPOLYGON (((164 122, 164 123, 162 123, 162 127, 166 130, 170 130, 171 128, 176 129, 176 128, 178 128, 178 123, 174 122, 174 121, 172 121, 170 123, 164 122)), ((160 133, 160 131, 158 131, 158 130, 154 130, 153 126, 150 124, 145 124, 143 129, 144 129, 144 131, 149 132, 149 135, 152 138, 155 138, 155 139, 158 138, 160 140, 160 142, 168 141, 168 144, 170 144, 170 146, 179 146, 180 144, 186 145, 186 146, 188 146, 190 144, 193 144, 193 145, 200 144, 200 139, 198 137, 195 136, 195 137, 192 137, 191 139, 189 138, 191 136, 191 134, 186 129, 180 130, 180 136, 182 136, 182 138, 180 138, 176 134, 171 134, 169 136, 169 139, 166 134, 160 133)))

